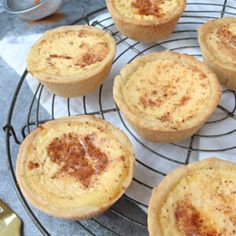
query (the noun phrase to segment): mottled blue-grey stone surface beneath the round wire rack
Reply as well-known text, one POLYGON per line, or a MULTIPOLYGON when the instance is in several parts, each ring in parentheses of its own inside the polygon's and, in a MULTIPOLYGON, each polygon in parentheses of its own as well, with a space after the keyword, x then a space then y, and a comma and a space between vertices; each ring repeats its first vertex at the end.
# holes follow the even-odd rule
MULTIPOLYGON (((0 4, 1 3, 2 0, 0 0, 0 4)), ((105 2, 102 0, 64 0, 59 11, 63 13, 65 17, 55 24, 28 24, 14 15, 1 12, 0 40, 6 36, 27 35, 43 32, 56 26, 70 24, 83 14, 103 6, 105 6, 105 2)), ((0 58, 0 127, 3 127, 4 124, 6 124, 10 102, 18 81, 19 76, 16 72, 0 58)), ((22 112, 21 107, 24 107, 24 104, 27 104, 29 97, 32 97, 32 93, 26 83, 24 83, 21 93, 23 93, 24 96, 20 96, 20 100, 17 101, 20 106, 16 106, 14 113, 14 119, 19 121, 15 122, 16 124, 20 124, 20 122, 25 119, 25 114, 22 112)), ((48 115, 47 112, 44 111, 43 108, 40 109, 40 113, 44 118, 46 118, 48 115)), ((15 129, 17 130, 19 127, 15 127, 15 129)), ((11 147, 13 162, 15 162, 18 148, 18 145, 12 145, 11 147)), ((2 129, 0 130, 0 163, 0 198, 22 219, 24 225, 23 235, 41 235, 24 210, 14 190, 7 166, 5 133, 2 129)), ((145 224, 146 215, 130 201, 121 199, 117 204, 115 204, 114 208, 120 212, 126 212, 126 215, 130 218, 135 218, 137 221, 145 224)), ((34 208, 33 211, 51 235, 91 235, 91 233, 81 227, 78 222, 55 219, 34 208)), ((108 211, 106 214, 96 218, 95 220, 83 221, 82 223, 94 235, 147 235, 145 227, 140 227, 139 224, 131 224, 129 220, 120 218, 113 211, 108 211), (103 224, 103 226, 101 226, 101 224, 103 224), (106 227, 108 229, 106 229, 106 227)))

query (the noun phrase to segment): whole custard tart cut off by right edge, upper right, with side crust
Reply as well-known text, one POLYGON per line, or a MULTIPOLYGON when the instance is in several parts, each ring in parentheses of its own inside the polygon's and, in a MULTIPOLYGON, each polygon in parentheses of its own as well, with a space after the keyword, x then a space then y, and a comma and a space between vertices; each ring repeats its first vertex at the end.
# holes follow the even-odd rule
POLYGON ((220 82, 236 90, 236 18, 208 21, 198 29, 204 61, 220 82))

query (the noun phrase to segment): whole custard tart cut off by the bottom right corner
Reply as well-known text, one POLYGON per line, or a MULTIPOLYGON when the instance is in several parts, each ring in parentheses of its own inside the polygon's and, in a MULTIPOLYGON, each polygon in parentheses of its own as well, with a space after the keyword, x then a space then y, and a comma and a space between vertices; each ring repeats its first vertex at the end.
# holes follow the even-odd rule
POLYGON ((209 158, 177 168, 153 192, 150 236, 236 233, 236 165, 209 158))

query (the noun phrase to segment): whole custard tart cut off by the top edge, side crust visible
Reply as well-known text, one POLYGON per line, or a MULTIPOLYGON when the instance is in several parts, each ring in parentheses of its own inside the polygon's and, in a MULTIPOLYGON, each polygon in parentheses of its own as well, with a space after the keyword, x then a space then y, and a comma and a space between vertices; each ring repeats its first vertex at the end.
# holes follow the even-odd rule
POLYGON ((129 38, 154 43, 167 38, 182 15, 185 0, 106 0, 119 31, 129 38))

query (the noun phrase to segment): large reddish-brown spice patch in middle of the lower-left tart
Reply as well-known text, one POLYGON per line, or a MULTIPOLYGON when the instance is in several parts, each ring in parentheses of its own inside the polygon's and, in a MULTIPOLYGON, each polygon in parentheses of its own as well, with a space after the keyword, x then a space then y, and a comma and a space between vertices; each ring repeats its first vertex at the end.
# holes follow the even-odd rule
POLYGON ((93 144, 90 136, 81 140, 75 133, 63 134, 51 141, 47 152, 51 161, 61 166, 53 178, 66 173, 85 188, 89 187, 94 175, 101 174, 108 166, 106 154, 93 144))

